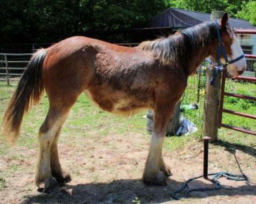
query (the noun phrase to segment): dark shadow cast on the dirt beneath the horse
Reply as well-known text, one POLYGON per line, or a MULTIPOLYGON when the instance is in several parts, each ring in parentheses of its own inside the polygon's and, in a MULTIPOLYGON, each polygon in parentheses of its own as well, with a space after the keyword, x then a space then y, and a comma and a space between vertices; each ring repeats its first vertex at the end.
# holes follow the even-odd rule
MULTIPOLYGON (((140 180, 116 180, 111 183, 64 185, 52 193, 27 195, 23 204, 30 203, 131 203, 137 197, 141 203, 163 203, 173 201, 171 193, 183 182, 170 179, 167 186, 148 186, 140 180)), ((212 187, 196 181, 198 187, 212 187)), ((217 191, 194 192, 189 197, 206 198, 216 195, 252 195, 256 185, 245 184, 239 188, 221 189, 217 191)), ((185 198, 186 199, 186 198, 185 198)))

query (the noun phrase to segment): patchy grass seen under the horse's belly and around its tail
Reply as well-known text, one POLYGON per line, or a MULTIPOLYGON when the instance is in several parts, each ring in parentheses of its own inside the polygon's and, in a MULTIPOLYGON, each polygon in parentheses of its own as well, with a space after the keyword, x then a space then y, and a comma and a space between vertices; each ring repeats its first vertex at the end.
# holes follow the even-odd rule
MULTIPOLYGON (((0 85, 0 121, 2 122, 4 109, 9 102, 12 93, 16 86, 0 85)), ((24 116, 21 125, 21 137, 18 139, 18 145, 35 148, 37 144, 38 129, 44 122, 47 115, 48 99, 44 94, 38 106, 32 107, 26 116, 24 116)), ((76 136, 90 137, 97 132, 104 137, 108 134, 126 133, 142 133, 145 136, 145 111, 134 116, 122 117, 100 110, 93 102, 90 101, 84 94, 81 94, 76 104, 70 111, 70 114, 62 129, 63 133, 68 135, 76 134, 76 136), (93 132, 93 133, 90 133, 93 132)), ((6 153, 8 147, 6 144, 1 144, 0 154, 6 153)))

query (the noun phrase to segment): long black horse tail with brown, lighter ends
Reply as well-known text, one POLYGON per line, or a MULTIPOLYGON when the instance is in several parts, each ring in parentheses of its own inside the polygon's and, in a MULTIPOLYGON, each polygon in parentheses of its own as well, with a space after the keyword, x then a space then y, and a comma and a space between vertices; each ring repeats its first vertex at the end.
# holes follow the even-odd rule
POLYGON ((33 55, 6 109, 2 134, 8 136, 9 142, 14 142, 19 135, 24 113, 41 99, 44 91, 42 66, 46 55, 47 51, 44 49, 33 55))

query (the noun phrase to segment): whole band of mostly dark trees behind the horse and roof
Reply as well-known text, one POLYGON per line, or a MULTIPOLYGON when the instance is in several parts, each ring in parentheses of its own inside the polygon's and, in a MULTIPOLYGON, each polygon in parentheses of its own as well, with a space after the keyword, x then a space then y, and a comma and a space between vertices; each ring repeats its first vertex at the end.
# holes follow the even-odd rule
POLYGON ((255 6, 252 0, 2 0, 0 42, 57 42, 73 35, 108 40, 105 31, 145 27, 169 7, 223 10, 256 25, 255 6))

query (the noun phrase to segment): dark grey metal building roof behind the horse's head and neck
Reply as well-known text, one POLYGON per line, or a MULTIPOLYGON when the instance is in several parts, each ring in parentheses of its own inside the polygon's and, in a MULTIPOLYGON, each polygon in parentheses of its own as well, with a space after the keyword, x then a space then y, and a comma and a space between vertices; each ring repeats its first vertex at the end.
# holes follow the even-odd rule
MULTIPOLYGON (((196 11, 188 11, 179 8, 168 8, 153 18, 151 21, 152 28, 160 27, 179 27, 185 28, 195 26, 211 20, 211 14, 205 14, 196 11)), ((230 18, 230 25, 236 29, 256 29, 246 20, 230 18)))

